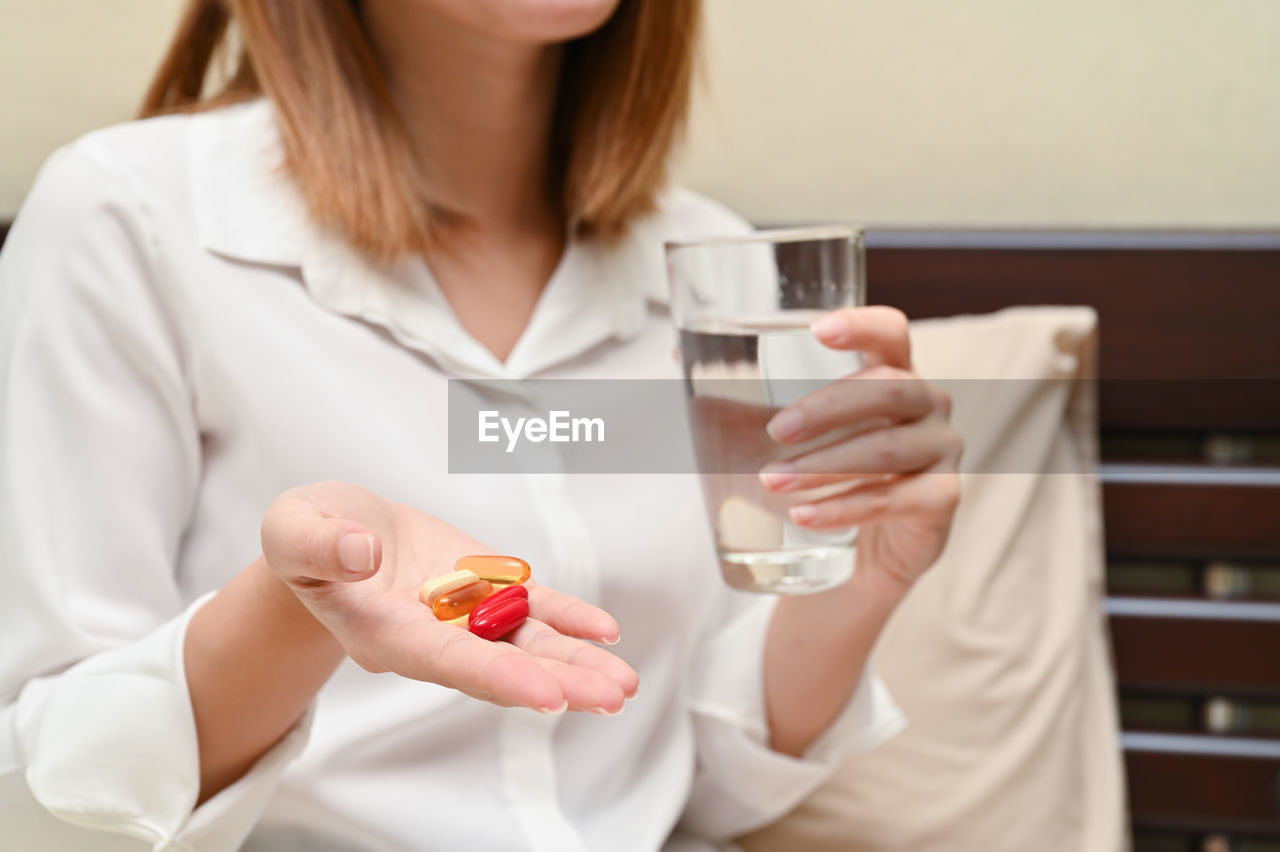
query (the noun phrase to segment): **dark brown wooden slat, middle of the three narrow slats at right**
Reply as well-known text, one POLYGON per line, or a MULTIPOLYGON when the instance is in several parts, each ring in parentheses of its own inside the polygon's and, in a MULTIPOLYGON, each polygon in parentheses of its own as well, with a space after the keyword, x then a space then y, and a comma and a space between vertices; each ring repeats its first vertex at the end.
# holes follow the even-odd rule
POLYGON ((1111 617, 1121 688, 1280 697, 1280 623, 1111 617))

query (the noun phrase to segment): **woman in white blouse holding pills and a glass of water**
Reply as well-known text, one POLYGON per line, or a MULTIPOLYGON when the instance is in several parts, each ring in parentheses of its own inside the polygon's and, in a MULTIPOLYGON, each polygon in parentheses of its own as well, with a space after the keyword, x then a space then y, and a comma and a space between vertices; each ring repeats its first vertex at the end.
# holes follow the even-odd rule
MULTIPOLYGON (((677 375, 662 239, 744 228, 662 188, 696 19, 193 0, 170 115, 50 160, 0 260, 19 848, 696 844, 897 729, 865 663, 946 540, 941 394, 841 383, 773 421, 887 422, 842 445, 887 476, 795 514, 863 525, 854 580, 808 597, 722 587, 690 477, 447 473, 449 379, 677 375), (503 642, 415 595, 486 551, 535 565, 503 642)), ((893 311, 815 334, 910 375, 893 311)), ((823 472, 796 468, 768 486, 823 472)))

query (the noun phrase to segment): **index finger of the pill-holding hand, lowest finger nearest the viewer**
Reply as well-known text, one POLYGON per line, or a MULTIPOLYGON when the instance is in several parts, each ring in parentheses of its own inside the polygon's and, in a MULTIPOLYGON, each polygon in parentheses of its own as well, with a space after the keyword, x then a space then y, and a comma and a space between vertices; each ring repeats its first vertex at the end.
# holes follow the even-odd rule
POLYGON ((456 624, 401 622, 383 631, 375 646, 369 652, 380 660, 379 668, 407 678, 439 683, 503 706, 544 713, 559 713, 567 706, 557 677, 532 656, 509 642, 490 642, 456 624))

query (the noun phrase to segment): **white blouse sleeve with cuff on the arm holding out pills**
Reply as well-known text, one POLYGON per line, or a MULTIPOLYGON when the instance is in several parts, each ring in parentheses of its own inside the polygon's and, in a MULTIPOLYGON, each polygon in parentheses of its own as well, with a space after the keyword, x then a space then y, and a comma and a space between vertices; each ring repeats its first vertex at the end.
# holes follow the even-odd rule
POLYGON ((0 255, 0 824, 23 849, 234 849, 305 719, 195 809, 175 580, 200 477, 142 193, 84 142, 0 255))

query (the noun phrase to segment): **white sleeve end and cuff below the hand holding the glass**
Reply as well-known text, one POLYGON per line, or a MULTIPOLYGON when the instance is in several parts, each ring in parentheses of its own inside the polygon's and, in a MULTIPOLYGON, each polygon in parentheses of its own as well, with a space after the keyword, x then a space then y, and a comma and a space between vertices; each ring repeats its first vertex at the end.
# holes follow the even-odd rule
POLYGON ((727 592, 733 614, 701 643, 690 700, 698 771, 681 830, 727 840, 781 817, 831 778, 905 725, 868 660, 840 716, 800 759, 769 748, 764 713, 764 640, 777 597, 727 592))

